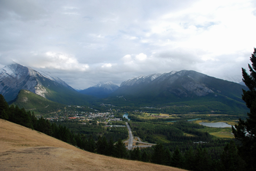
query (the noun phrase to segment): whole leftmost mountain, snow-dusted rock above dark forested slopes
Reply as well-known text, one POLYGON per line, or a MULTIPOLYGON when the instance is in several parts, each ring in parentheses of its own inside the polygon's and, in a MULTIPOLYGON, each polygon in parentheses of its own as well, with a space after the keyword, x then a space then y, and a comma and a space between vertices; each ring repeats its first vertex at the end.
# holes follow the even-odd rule
POLYGON ((39 96, 62 104, 73 104, 90 99, 50 73, 39 73, 20 64, 11 64, 0 70, 0 93, 6 101, 17 97, 20 90, 29 90, 39 96))

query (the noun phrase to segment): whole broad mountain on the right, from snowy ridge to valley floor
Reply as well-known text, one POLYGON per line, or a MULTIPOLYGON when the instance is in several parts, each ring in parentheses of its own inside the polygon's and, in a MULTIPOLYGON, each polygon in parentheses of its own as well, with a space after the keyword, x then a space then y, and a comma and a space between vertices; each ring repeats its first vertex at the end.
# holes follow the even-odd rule
POLYGON ((172 71, 164 74, 141 75, 121 83, 109 95, 114 105, 127 106, 193 106, 201 112, 219 110, 246 113, 242 89, 247 87, 195 71, 172 71))

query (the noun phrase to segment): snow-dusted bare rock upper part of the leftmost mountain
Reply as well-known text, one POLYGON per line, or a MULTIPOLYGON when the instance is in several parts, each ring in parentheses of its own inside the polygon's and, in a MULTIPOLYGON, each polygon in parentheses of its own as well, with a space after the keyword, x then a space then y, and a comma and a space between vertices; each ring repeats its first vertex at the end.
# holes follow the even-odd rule
POLYGON ((21 89, 29 90, 45 98, 48 93, 46 87, 49 84, 54 84, 55 86, 61 84, 68 89, 74 90, 60 79, 49 78, 49 75, 45 76, 17 63, 7 65, 0 70, 0 82, 0 93, 5 97, 6 101, 13 100, 21 89))

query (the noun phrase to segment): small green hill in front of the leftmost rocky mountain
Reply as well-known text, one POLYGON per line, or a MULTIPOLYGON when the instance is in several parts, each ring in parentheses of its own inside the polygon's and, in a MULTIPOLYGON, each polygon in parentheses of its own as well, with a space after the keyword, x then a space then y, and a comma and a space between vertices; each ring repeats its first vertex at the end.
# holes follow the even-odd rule
POLYGON ((58 112, 58 110, 65 107, 63 104, 48 100, 28 90, 20 90, 18 96, 10 101, 9 104, 17 105, 19 108, 25 108, 35 114, 58 112))

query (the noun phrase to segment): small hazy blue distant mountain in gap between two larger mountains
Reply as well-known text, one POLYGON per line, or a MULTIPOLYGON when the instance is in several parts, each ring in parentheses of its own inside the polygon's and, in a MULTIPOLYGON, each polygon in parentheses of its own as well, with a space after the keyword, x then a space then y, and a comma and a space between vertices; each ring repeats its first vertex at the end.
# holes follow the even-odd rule
POLYGON ((100 82, 93 87, 79 91, 85 95, 92 95, 95 97, 103 98, 116 91, 119 87, 111 81, 100 82))

